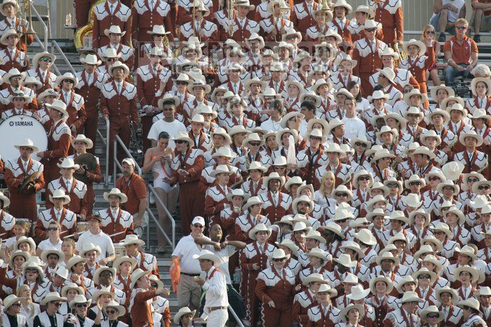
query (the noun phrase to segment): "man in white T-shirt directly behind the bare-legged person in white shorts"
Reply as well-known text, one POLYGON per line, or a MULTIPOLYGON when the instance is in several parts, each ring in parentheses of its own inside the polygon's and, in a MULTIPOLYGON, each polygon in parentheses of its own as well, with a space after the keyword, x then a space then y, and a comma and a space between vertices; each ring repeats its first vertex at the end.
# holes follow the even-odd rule
POLYGON ((159 140, 159 134, 166 131, 170 135, 169 147, 174 148, 175 144, 172 140, 179 132, 187 133, 186 126, 175 119, 175 106, 178 103, 178 98, 173 95, 164 95, 159 100, 159 108, 162 110, 163 119, 155 121, 150 128, 147 138, 152 141, 152 147, 156 147, 159 140))

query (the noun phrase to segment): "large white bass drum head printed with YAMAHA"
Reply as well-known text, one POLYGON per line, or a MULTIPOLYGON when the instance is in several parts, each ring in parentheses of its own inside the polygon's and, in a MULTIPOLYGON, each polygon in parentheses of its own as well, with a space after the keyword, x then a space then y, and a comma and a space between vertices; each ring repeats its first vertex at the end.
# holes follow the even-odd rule
MULTIPOLYGON (((20 144, 25 138, 30 138, 39 152, 48 149, 48 135, 37 119, 25 114, 11 116, 0 124, 0 155, 1 159, 15 160, 19 157, 19 150, 14 145, 20 144)), ((32 159, 39 161, 41 158, 32 154, 32 159)))

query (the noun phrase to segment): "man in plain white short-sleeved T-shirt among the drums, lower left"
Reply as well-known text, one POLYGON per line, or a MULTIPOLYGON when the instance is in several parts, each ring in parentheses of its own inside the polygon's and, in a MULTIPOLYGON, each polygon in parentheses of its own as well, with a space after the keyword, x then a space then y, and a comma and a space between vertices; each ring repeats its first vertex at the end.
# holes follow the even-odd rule
POLYGON ((107 265, 107 262, 112 262, 116 258, 114 244, 111 238, 100 229, 102 218, 99 215, 90 215, 87 220, 88 231, 83 232, 79 237, 79 241, 76 242, 76 251, 80 253, 84 243, 93 243, 101 249, 97 262, 100 265, 107 265))

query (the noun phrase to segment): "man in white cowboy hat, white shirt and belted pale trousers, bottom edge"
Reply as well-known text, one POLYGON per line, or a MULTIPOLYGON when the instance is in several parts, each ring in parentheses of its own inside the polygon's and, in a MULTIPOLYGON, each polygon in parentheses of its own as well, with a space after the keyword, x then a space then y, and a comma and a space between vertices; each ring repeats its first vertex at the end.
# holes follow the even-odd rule
POLYGON ((208 250, 193 255, 193 259, 199 260, 199 266, 206 272, 205 279, 196 277, 195 281, 206 291, 206 302, 203 314, 199 319, 207 321, 207 326, 224 327, 229 319, 229 298, 227 296, 227 279, 225 274, 215 265, 220 265, 220 258, 208 250))

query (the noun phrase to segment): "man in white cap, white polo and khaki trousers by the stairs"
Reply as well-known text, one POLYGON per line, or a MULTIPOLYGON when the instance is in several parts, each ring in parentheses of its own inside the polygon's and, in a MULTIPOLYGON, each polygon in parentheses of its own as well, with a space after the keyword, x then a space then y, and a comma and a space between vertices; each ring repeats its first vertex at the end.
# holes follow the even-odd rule
MULTIPOLYGON (((191 234, 182 237, 172 254, 172 259, 180 259, 181 276, 177 285, 177 307, 189 307, 190 309, 199 308, 199 298, 201 297, 201 287, 194 277, 201 273, 199 262, 194 260, 193 255, 199 255, 201 246, 194 243, 194 239, 199 237, 206 240, 208 237, 203 236, 205 229, 205 219, 195 217, 191 222, 191 234)), ((174 264, 173 264, 174 265, 174 264)), ((173 265, 170 268, 173 268, 173 265)), ((211 325, 210 325, 211 326, 211 325)))

